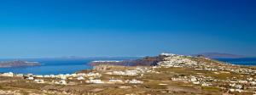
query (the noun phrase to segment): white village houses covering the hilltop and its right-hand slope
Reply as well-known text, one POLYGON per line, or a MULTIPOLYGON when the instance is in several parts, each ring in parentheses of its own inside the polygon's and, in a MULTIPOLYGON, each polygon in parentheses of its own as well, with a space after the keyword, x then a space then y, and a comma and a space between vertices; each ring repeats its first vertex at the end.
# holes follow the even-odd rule
POLYGON ((204 63, 203 61, 197 63, 191 59, 188 59, 188 57, 182 55, 168 53, 162 53, 161 55, 165 56, 166 58, 164 58, 164 61, 158 63, 160 67, 189 67, 194 68, 195 70, 214 71, 213 73, 216 75, 224 73, 230 74, 231 72, 241 75, 247 75, 243 76, 247 77, 247 79, 227 77, 227 80, 219 80, 213 77, 206 76, 177 76, 172 77, 172 81, 189 81, 195 85, 201 85, 203 87, 212 86, 212 81, 222 81, 230 83, 229 87, 227 88, 229 92, 247 92, 244 90, 244 87, 246 87, 247 89, 256 89, 256 76, 251 76, 256 74, 256 70, 252 70, 250 68, 241 68, 241 66, 234 64, 223 64, 218 61, 213 62, 211 59, 206 59, 208 61, 207 63, 204 63))

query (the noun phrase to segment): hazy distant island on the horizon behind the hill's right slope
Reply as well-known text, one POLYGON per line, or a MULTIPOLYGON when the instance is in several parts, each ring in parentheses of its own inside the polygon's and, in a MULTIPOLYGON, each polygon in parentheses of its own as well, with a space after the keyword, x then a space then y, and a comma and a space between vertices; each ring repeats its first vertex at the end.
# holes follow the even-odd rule
POLYGON ((246 56, 230 54, 230 53, 199 53, 194 56, 203 56, 211 59, 236 59, 236 58, 246 58, 246 56))

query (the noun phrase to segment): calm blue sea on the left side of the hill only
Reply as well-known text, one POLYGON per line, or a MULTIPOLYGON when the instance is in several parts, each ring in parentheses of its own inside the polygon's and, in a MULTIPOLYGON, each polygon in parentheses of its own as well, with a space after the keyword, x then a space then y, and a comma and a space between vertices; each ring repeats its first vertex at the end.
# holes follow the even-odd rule
MULTIPOLYGON (((135 58, 113 58, 103 60, 123 60, 135 58)), ((12 59, 0 59, 1 61, 12 59)), ((89 70, 92 66, 89 63, 99 59, 21 59, 26 61, 36 61, 41 63, 40 66, 17 67, 17 68, 0 68, 0 72, 14 72, 21 74, 50 75, 50 74, 72 74, 79 70, 89 70)))

